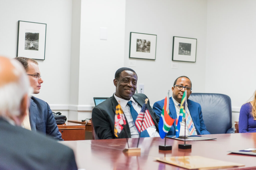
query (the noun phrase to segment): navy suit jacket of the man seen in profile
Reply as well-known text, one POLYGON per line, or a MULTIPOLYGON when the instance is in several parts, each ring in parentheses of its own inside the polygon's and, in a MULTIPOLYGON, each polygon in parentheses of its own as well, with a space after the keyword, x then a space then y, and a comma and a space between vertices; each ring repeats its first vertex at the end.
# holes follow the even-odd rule
POLYGON ((63 140, 50 106, 44 100, 31 97, 29 121, 32 131, 50 135, 55 140, 63 140))

